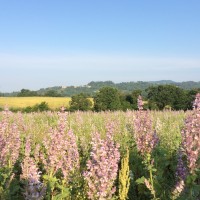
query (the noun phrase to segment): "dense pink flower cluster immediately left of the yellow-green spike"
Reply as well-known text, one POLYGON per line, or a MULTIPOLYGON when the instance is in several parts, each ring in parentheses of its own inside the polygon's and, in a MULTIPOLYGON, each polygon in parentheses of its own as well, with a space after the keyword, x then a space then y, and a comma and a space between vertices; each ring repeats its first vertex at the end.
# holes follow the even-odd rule
POLYGON ((114 182, 117 178, 120 160, 119 144, 114 143, 111 134, 105 139, 95 133, 92 138, 92 151, 87 162, 84 177, 88 184, 88 198, 92 200, 111 199, 116 191, 114 182))

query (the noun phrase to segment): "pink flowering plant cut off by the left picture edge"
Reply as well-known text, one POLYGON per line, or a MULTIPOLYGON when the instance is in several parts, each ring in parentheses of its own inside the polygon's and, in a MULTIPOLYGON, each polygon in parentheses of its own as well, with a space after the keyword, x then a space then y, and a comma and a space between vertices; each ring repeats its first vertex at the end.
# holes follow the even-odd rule
POLYGON ((9 187, 15 177, 14 165, 20 152, 20 132, 15 123, 9 122, 12 112, 7 108, 3 111, 0 122, 0 199, 5 199, 9 187))

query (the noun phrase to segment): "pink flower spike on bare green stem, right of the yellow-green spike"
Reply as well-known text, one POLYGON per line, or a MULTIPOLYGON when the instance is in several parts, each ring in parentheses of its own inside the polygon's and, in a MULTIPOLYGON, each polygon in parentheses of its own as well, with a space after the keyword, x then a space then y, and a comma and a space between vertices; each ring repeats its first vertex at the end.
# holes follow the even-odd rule
POLYGON ((134 139, 136 142, 137 151, 143 157, 143 163, 149 171, 149 178, 140 178, 136 182, 144 183, 150 190, 153 199, 157 199, 154 188, 153 172, 156 171, 154 167, 154 159, 152 152, 159 142, 158 135, 153 129, 153 124, 149 111, 143 110, 142 97, 138 97, 138 110, 134 119, 134 139))

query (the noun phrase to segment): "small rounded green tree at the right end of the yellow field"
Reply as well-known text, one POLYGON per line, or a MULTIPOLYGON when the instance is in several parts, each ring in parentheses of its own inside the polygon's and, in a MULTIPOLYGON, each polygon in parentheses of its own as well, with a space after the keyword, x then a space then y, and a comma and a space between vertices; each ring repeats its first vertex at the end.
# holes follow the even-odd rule
POLYGON ((70 110, 82 110, 87 111, 91 110, 92 102, 87 98, 87 95, 84 93, 76 94, 72 96, 70 101, 70 110))

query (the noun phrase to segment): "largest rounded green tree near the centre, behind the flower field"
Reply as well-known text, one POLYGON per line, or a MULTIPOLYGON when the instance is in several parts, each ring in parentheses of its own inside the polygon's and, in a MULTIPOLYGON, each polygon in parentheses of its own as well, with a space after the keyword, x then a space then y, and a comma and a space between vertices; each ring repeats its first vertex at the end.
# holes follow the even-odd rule
POLYGON ((103 87, 94 97, 96 111, 120 110, 121 101, 119 91, 112 87, 103 87))

